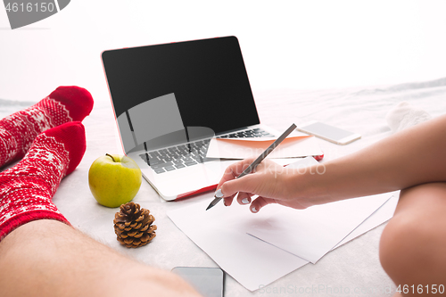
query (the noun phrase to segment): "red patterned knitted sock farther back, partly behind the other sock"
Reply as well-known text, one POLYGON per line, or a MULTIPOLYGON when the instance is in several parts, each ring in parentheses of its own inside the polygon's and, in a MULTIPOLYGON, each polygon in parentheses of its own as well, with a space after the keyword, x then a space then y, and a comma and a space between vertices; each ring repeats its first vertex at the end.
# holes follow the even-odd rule
POLYGON ((41 132, 63 123, 84 120, 93 98, 82 87, 58 87, 33 106, 0 120, 0 167, 21 159, 41 132))

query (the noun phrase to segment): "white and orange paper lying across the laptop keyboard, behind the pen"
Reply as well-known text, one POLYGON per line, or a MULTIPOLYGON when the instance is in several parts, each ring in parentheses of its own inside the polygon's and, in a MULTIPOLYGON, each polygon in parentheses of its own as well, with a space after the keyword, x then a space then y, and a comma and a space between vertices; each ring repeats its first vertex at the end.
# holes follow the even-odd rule
MULTIPOLYGON (((207 158, 245 159, 263 153, 275 138, 212 138, 207 158)), ((269 153, 268 158, 301 158, 323 154, 314 136, 293 136, 269 153)))

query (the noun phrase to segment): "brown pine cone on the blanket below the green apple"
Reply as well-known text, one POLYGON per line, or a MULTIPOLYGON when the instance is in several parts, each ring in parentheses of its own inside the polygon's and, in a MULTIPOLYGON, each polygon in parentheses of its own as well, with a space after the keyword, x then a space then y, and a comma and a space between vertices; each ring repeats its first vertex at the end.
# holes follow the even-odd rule
POLYGON ((149 210, 140 208, 139 204, 128 202, 114 215, 114 232, 118 241, 128 248, 143 246, 156 236, 156 226, 152 225, 155 218, 149 210))

